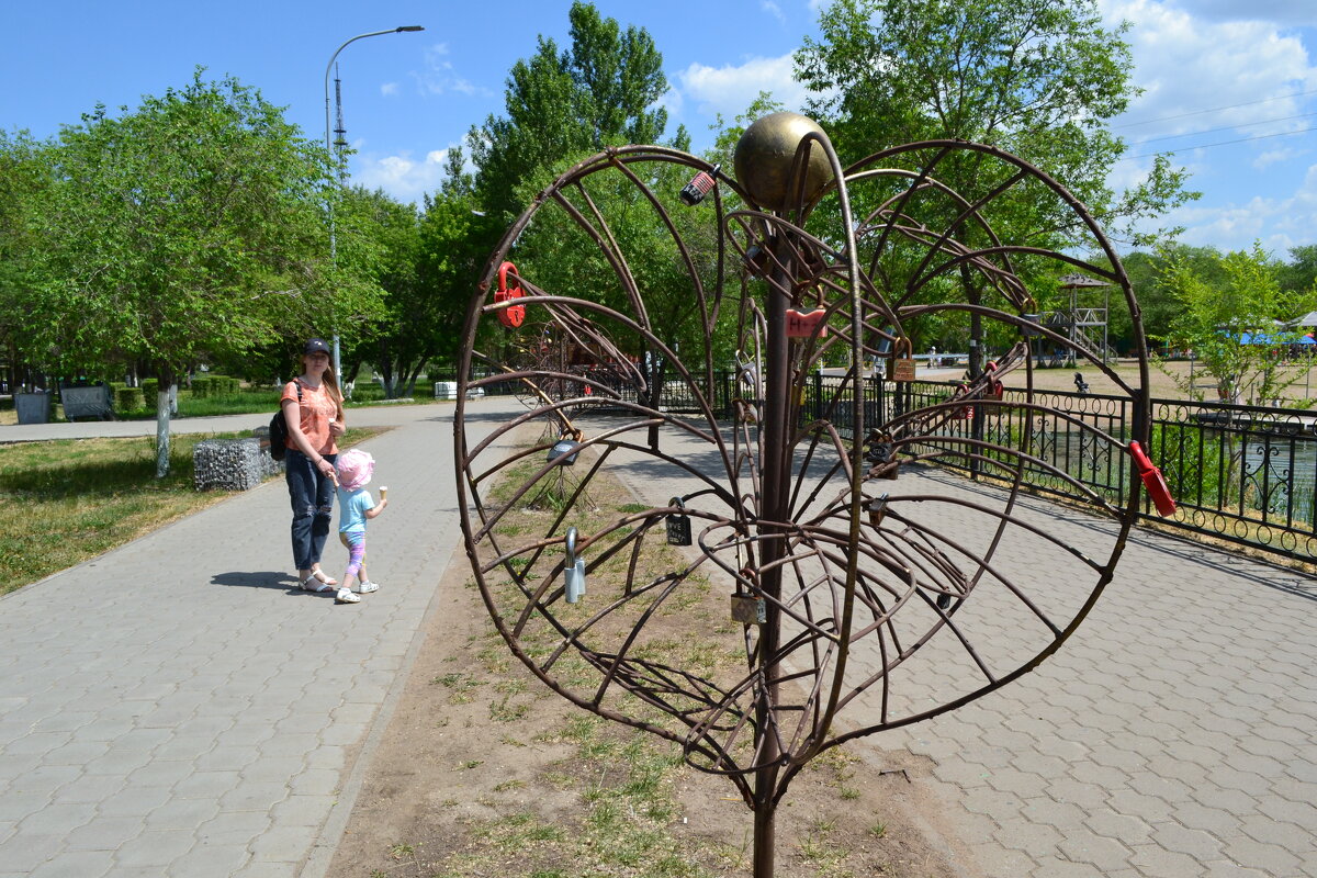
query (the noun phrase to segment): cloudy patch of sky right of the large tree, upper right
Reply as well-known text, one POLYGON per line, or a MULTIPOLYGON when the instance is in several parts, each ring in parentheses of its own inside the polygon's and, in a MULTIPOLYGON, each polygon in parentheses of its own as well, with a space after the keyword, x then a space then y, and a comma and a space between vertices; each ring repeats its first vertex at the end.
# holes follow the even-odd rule
MULTIPOLYGON (((1239 250, 1255 240, 1277 250, 1292 246, 1289 241, 1312 241, 1317 186, 1293 182, 1303 178, 1297 159, 1312 142, 1303 130, 1313 122, 1284 117, 1317 109, 1304 95, 1317 90, 1314 53, 1305 45, 1313 32, 1287 28, 1299 24, 1299 7, 1310 11, 1313 4, 1100 0, 1100 5, 1109 26, 1121 20, 1131 24, 1125 39, 1134 55, 1134 83, 1144 90, 1114 120, 1114 133, 1131 143, 1134 155, 1181 150, 1172 161, 1191 171, 1188 187, 1204 192, 1201 201, 1151 225, 1183 225, 1185 242, 1222 250, 1239 250), (1267 137, 1272 134, 1283 136, 1267 137), (1223 145, 1246 138, 1259 140, 1223 145)), ((1118 162, 1109 180, 1113 188, 1137 179, 1143 161, 1118 162)))

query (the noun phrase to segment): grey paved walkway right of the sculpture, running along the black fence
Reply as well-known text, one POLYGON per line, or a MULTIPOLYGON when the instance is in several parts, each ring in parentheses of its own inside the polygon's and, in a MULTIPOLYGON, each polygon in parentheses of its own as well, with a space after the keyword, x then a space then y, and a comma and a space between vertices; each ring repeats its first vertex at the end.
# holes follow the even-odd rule
MULTIPOLYGON (((697 459, 702 446, 686 444, 682 452, 665 437, 664 450, 697 459)), ((652 461, 641 469, 644 480, 623 467, 624 478, 653 502, 698 487, 666 480, 652 461)), ((907 495, 977 491, 936 470, 890 484, 907 495)), ((1022 519, 1069 545, 1109 550, 1089 516, 1021 505, 1022 519)), ((963 541, 982 530, 940 524, 963 541)), ((1055 552, 1006 552, 994 563, 1044 586, 1072 573, 1055 552)), ((994 632, 986 645, 1009 653, 1022 621, 984 620, 994 632)), ((923 763, 915 782, 936 803, 926 829, 967 878, 1317 877, 1314 659, 1317 581, 1134 529, 1094 611, 1039 669, 951 713, 864 738, 871 746, 859 752, 874 769, 911 761, 881 750, 923 763)), ((872 670, 881 661, 852 656, 872 670)), ((935 661, 921 669, 930 695, 942 671, 935 661)), ((876 696, 844 719, 876 723, 876 696)))

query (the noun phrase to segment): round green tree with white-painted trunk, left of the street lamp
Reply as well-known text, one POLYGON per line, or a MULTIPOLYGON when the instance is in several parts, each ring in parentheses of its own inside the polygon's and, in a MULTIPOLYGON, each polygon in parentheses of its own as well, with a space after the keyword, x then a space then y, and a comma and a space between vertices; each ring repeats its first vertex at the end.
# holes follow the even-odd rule
POLYGON ((378 296, 353 259, 325 270, 337 186, 324 150, 259 92, 202 74, 136 111, 97 107, 66 126, 36 217, 40 319, 28 329, 65 370, 141 361, 154 371, 158 475, 180 374, 378 296))

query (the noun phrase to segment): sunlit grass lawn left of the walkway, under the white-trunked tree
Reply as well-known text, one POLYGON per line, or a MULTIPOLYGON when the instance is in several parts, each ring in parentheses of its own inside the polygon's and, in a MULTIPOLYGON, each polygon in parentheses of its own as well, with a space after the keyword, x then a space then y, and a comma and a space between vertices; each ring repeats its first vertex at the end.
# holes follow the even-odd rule
MULTIPOLYGON (((378 430, 348 430, 352 445, 378 430)), ((170 437, 170 474, 155 478, 155 438, 57 440, 0 445, 0 594, 95 558, 229 491, 192 487, 192 448, 170 437)))

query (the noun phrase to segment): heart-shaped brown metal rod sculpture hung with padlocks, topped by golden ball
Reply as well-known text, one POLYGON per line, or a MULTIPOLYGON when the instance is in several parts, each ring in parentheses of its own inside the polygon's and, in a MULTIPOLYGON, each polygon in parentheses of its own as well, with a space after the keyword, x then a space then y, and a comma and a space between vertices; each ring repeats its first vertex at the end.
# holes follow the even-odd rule
POLYGON ((685 153, 626 146, 535 199, 468 315, 461 374, 491 371, 458 394, 456 463, 475 579, 512 652, 577 706, 677 741, 689 763, 727 775, 755 813, 755 875, 766 878, 777 804, 806 762, 1018 678, 1093 607, 1151 466, 1125 465, 1131 441, 1147 445, 1147 362, 1129 280, 1093 217, 1013 155, 931 141, 843 168, 818 125, 777 113, 745 132, 735 168, 731 178, 685 153), (957 190, 944 170, 976 184, 957 190), (1046 234, 1002 241, 997 217, 1019 236, 1026 203, 1072 246, 1051 249, 1046 234), (1097 258, 1075 255, 1085 246, 1097 258), (527 326, 552 328, 570 369, 499 353, 508 299, 490 291, 514 253, 527 326), (1130 434, 1033 390, 1026 338, 1073 345, 1031 320, 1030 288, 1076 270, 1125 295, 1139 382, 1075 355, 1131 400, 1130 434), (930 398, 911 379, 913 342, 932 324, 968 334, 971 365, 959 387, 930 398), (986 344, 1005 353, 986 363, 986 344), (882 361, 886 375, 871 374, 882 361), (1004 394, 1015 370, 1025 390, 1004 394), (477 438, 465 391, 500 380, 536 401, 477 438), (1029 428, 994 428, 1008 409, 1029 428), (541 417, 556 428, 508 450, 541 417), (641 511, 587 528, 573 495, 536 533, 502 527, 560 466, 553 437, 569 432, 579 487, 619 474, 641 511), (1129 502, 1114 505, 1033 453, 1056 441, 1122 466, 1129 502), (973 494, 936 477, 955 470, 976 480, 973 494), (1039 523, 1025 471, 1087 498, 1097 549, 1039 523), (678 546, 662 569, 645 559, 655 542, 678 546), (1059 559, 1079 573, 1058 582, 1059 559), (726 591, 740 627, 735 674, 648 648, 647 627, 697 575, 726 591), (1009 640, 997 636, 1004 620, 1009 640), (834 729, 860 703, 871 721, 834 729))

